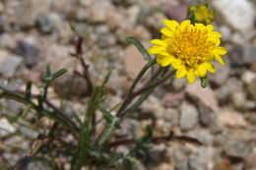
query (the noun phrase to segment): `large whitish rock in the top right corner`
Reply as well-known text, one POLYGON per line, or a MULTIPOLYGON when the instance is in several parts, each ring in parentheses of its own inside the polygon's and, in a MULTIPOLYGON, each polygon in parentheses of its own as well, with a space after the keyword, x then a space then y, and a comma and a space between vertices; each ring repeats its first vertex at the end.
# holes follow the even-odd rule
POLYGON ((217 14, 222 15, 224 22, 232 28, 241 31, 247 31, 253 28, 254 8, 250 1, 216 0, 212 3, 217 10, 217 14))

